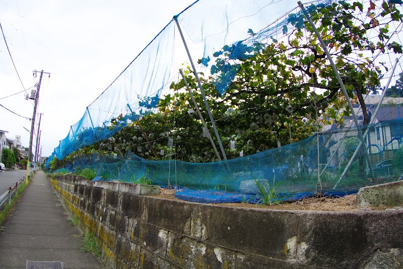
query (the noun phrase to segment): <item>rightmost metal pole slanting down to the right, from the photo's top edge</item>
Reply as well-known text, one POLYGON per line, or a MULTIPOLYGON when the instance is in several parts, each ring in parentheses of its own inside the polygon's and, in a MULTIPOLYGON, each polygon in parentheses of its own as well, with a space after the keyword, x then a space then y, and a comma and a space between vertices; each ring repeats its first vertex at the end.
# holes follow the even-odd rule
MULTIPOLYGON (((306 17, 306 19, 308 20, 309 24, 312 26, 312 29, 313 29, 313 31, 315 32, 316 37, 318 38, 318 40, 319 40, 319 42, 320 42, 320 45, 321 45, 321 47, 323 48, 323 51, 326 53, 327 59, 328 59, 329 62, 330 62, 330 65, 331 65, 331 67, 332 67, 332 69, 333 69, 334 75, 336 76, 336 78, 337 78, 337 80, 338 80, 338 82, 339 82, 339 84, 340 84, 340 87, 342 88, 343 94, 344 94, 345 97, 346 97, 347 103, 349 104, 349 107, 350 107, 350 110, 351 110, 351 114, 353 115, 354 122, 355 122, 356 126, 357 126, 357 127, 360 126, 360 123, 358 122, 358 119, 357 119, 357 115, 356 115, 356 113, 354 112, 353 104, 351 103, 349 94, 347 93, 346 87, 344 86, 343 80, 342 80, 342 78, 340 77, 339 71, 337 70, 337 67, 336 67, 336 65, 334 64, 334 61, 333 61, 333 59, 331 58, 331 55, 330 55, 329 51, 327 50, 327 47, 326 47, 325 43, 323 42, 323 39, 322 39, 322 37, 320 36, 320 33, 319 33, 318 29, 316 28, 315 24, 312 22, 312 20, 311 20, 309 14, 308 14, 308 12, 305 10, 304 5, 302 5, 301 1, 298 1, 298 5, 299 5, 299 7, 301 8, 302 12, 305 14, 305 17, 306 17)), ((366 145, 366 143, 365 143, 365 141, 364 141, 364 137, 363 137, 363 135, 362 135, 362 133, 361 133, 361 130, 358 129, 357 132, 358 132, 358 136, 359 136, 359 138, 360 138, 360 140, 361 140, 361 143, 363 143, 364 145, 366 145)), ((367 149, 366 149, 366 148, 367 148, 367 147, 365 147, 365 151, 364 151, 365 157, 367 158, 367 163, 368 163, 369 170, 370 170, 371 173, 373 174, 371 161, 370 161, 370 159, 369 159, 369 155, 368 155, 368 152, 367 152, 367 149)))

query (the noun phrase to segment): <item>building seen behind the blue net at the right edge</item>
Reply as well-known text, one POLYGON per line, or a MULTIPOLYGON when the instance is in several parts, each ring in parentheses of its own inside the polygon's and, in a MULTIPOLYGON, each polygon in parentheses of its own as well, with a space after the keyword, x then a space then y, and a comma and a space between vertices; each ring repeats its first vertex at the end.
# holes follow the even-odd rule
MULTIPOLYGON (((380 101, 380 95, 368 95, 365 97, 367 113, 371 120, 374 116, 376 107, 380 101)), ((384 98, 381 107, 373 118, 373 126, 368 130, 365 137, 367 143, 367 151, 372 164, 376 164, 381 160, 393 159, 393 154, 396 150, 402 148, 403 145, 403 110, 400 104, 403 104, 403 98, 384 98), (391 120, 397 120, 390 122, 391 120), (376 124, 382 123, 382 124, 376 124)), ((354 104, 354 111, 357 114, 359 124, 363 124, 363 113, 359 104, 354 104)), ((349 161, 349 158, 355 151, 359 143, 358 132, 355 129, 353 116, 344 117, 344 123, 332 127, 326 126, 327 129, 321 134, 331 136, 327 145, 324 147, 325 156, 321 157, 321 163, 328 163, 330 167, 341 165, 344 161, 349 161), (335 130, 341 132, 335 133, 335 130), (343 132, 343 129, 346 132, 343 132), (330 134, 334 133, 334 134, 330 134), (350 140, 352 143, 348 143, 350 140), (323 158, 324 157, 324 158, 323 158)), ((363 133, 365 129, 363 130, 363 133)))

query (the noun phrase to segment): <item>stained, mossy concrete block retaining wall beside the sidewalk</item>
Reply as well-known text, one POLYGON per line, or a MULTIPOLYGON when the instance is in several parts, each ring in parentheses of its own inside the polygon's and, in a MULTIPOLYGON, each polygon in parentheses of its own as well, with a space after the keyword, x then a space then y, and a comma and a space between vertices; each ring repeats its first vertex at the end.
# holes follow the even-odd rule
POLYGON ((77 176, 51 181, 81 228, 96 235, 102 259, 113 268, 403 265, 401 210, 243 209, 133 195, 132 184, 77 176))

